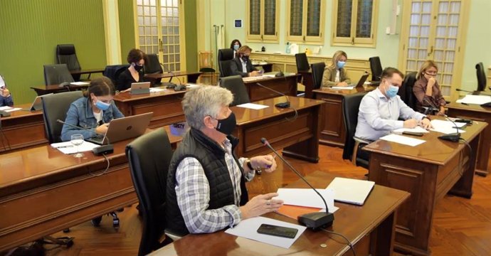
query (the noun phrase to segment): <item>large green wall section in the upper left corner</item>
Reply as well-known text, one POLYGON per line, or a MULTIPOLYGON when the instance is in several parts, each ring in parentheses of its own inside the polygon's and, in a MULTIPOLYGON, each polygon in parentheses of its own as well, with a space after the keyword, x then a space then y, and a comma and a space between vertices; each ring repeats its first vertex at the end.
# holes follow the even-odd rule
POLYGON ((56 45, 73 43, 82 68, 106 64, 101 0, 0 1, 0 73, 16 104, 32 102, 44 85, 43 65, 56 63, 56 45))

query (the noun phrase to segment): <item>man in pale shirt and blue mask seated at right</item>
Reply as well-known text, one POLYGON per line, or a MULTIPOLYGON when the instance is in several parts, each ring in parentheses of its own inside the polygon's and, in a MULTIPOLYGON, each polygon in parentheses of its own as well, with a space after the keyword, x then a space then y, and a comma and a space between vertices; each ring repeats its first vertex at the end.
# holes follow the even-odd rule
POLYGON ((396 68, 384 69, 379 87, 361 100, 355 137, 376 141, 394 129, 418 125, 424 129, 431 128, 428 117, 408 107, 397 95, 403 76, 396 68))

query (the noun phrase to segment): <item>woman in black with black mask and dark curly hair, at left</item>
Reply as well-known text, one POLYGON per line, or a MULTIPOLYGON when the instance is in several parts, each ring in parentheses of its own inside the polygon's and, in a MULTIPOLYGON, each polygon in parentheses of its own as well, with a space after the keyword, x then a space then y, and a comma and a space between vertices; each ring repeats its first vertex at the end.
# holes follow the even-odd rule
POLYGON ((127 61, 130 63, 130 68, 120 73, 117 78, 116 90, 127 92, 131 89, 133 82, 145 82, 143 66, 147 55, 138 49, 131 49, 128 53, 127 61))

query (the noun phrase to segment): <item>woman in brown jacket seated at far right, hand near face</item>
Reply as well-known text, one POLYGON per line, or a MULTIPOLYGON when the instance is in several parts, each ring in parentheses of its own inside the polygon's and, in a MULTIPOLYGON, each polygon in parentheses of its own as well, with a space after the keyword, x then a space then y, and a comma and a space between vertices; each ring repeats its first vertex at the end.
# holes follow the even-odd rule
POLYGON ((418 99, 416 110, 423 113, 426 111, 424 107, 438 107, 434 112, 438 111, 437 115, 444 116, 446 102, 435 79, 436 73, 438 73, 436 63, 433 60, 426 60, 416 74, 417 80, 413 86, 413 93, 418 99))

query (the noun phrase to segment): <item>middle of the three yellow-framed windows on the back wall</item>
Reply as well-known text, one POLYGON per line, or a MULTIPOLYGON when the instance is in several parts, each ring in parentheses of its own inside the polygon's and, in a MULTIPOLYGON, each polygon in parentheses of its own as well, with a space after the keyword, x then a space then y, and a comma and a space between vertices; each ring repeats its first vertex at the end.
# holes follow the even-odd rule
POLYGON ((324 31, 324 1, 287 1, 287 41, 322 43, 324 31))

